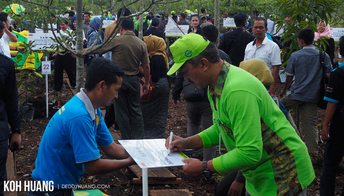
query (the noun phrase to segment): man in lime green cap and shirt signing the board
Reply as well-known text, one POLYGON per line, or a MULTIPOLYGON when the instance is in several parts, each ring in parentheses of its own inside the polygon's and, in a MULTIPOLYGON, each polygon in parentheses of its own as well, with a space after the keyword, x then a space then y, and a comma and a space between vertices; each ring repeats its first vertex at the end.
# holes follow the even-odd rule
POLYGON ((208 86, 214 125, 201 133, 173 136, 171 151, 219 145, 228 150, 213 160, 184 159, 190 176, 240 170, 251 196, 306 196, 315 179, 307 147, 288 123, 262 83, 250 73, 220 59, 215 45, 195 33, 170 47, 177 70, 198 88, 208 86))

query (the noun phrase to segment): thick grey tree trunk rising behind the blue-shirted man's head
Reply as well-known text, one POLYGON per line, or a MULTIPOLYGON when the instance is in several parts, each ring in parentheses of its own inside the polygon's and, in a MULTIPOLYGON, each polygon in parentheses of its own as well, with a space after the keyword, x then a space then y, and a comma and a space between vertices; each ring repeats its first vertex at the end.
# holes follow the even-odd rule
POLYGON ((84 87, 84 54, 83 54, 83 0, 77 0, 77 92, 80 92, 80 88, 84 87))

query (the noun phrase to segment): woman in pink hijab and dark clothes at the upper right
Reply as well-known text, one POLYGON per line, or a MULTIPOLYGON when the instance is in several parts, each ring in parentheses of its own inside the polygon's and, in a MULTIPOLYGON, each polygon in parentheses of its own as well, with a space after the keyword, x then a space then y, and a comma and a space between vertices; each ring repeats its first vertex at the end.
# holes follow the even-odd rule
POLYGON ((318 31, 314 33, 314 41, 320 39, 321 36, 327 36, 330 38, 326 40, 328 42, 328 44, 326 45, 326 50, 324 49, 324 46, 322 44, 320 45, 320 47, 330 56, 331 64, 333 67, 335 59, 335 40, 330 33, 330 25, 326 25, 325 21, 321 21, 319 23, 318 31))

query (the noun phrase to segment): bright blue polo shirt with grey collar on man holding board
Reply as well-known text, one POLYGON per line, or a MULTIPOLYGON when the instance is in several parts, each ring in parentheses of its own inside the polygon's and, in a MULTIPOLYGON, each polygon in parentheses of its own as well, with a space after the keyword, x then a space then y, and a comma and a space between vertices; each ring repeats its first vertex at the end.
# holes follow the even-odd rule
POLYGON ((56 112, 38 148, 33 179, 52 180, 57 189, 77 185, 85 170, 84 162, 100 157, 98 146, 114 142, 102 112, 91 105, 82 89, 56 112))

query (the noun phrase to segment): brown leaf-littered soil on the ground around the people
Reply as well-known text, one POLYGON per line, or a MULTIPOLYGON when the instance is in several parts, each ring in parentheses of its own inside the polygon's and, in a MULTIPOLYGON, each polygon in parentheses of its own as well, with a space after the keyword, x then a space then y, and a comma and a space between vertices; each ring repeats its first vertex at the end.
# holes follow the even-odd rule
MULTIPOLYGON (((29 72, 29 71, 28 71, 29 72)), ((19 74, 19 73, 17 73, 19 74)), ((35 82, 37 87, 37 96, 32 96, 33 107, 35 108, 35 115, 32 122, 22 123, 22 149, 17 152, 17 179, 23 181, 32 180, 31 172, 35 168, 35 159, 37 156, 37 150, 50 118, 56 112, 53 106, 59 104, 64 104, 70 98, 73 97, 68 84, 65 82, 62 90, 56 94, 49 94, 49 102, 54 102, 49 105, 49 118, 46 118, 46 108, 45 108, 45 79, 40 78, 35 82)), ((52 89, 52 75, 49 75, 49 91, 52 89)), ((283 84, 278 81, 276 92, 281 92, 283 84)), ((171 98, 170 98, 171 99, 171 98)), ((322 124, 325 112, 324 110, 318 109, 318 123, 322 124)), ((301 123, 302 127, 302 123, 301 123)), ((320 126, 321 127, 321 126, 320 126)), ((182 103, 179 107, 174 107, 172 101, 170 101, 169 114, 168 114, 168 124, 166 128, 166 138, 168 137, 170 131, 174 134, 182 137, 187 137, 187 115, 185 111, 185 105, 182 103)), ((320 132, 319 132, 320 135, 320 132)), ((302 135, 304 140, 304 135, 302 135)), ((320 140, 319 140, 320 141, 320 140)), ((312 162, 315 170, 316 178, 313 183, 308 187, 308 195, 319 196, 319 177, 321 174, 322 165, 322 155, 324 150, 324 144, 319 142, 320 151, 317 155, 312 155, 312 162)), ((225 151, 224 147, 222 152, 225 151)), ((101 157, 106 158, 106 155, 101 152, 101 157)), ((11 157, 8 157, 11 158, 11 157)), ((201 157, 202 159, 202 157, 201 157)), ((182 178, 182 184, 162 184, 162 185, 149 185, 149 190, 159 190, 159 189, 188 189, 194 192, 194 196, 213 196, 214 187, 219 179, 222 178, 221 175, 213 176, 210 179, 205 179, 204 177, 191 178, 184 175, 180 167, 168 168, 177 178, 182 178)), ((48 170, 48 169, 47 169, 48 170)), ((87 171, 84 172, 82 180, 79 184, 82 185, 109 185, 110 188, 100 189, 103 193, 111 196, 141 196, 142 195, 142 185, 134 185, 132 179, 136 178, 136 175, 128 168, 122 169, 115 172, 110 172, 103 175, 90 175, 87 171)), ((339 172, 336 179, 336 196, 340 195, 342 187, 344 184, 344 167, 341 163, 339 172)), ((18 196, 25 196, 26 192, 19 192, 18 196)))

